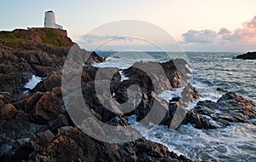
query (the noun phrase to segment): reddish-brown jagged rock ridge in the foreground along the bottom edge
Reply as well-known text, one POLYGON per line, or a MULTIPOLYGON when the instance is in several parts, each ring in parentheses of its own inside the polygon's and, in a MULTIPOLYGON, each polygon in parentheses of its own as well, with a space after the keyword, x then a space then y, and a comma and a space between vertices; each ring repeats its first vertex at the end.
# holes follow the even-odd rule
POLYGON ((185 157, 169 152, 161 144, 145 139, 123 144, 99 142, 73 127, 58 131, 51 142, 29 156, 30 160, 54 161, 172 161, 187 160, 185 157), (57 154, 56 154, 57 153, 57 154))

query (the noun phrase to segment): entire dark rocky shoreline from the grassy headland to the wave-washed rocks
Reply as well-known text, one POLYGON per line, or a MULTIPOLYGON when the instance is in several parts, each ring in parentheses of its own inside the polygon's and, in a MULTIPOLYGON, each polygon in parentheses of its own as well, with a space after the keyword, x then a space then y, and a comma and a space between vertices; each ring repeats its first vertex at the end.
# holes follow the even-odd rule
MULTIPOLYGON (((85 135, 76 128, 73 119, 67 114, 61 93, 61 70, 73 45, 81 55, 90 53, 72 43, 67 38, 67 33, 60 34, 55 29, 15 30, 9 32, 8 36, 5 32, 4 34, 0 32, 1 161, 191 161, 183 155, 173 153, 162 144, 144 138, 134 142, 111 144, 85 135), (55 40, 61 38, 66 40, 65 43, 57 41, 58 43, 50 44, 46 41, 47 35, 52 32, 55 33, 55 40), (32 36, 29 37, 30 35, 32 36), (27 89, 24 85, 32 75, 43 77, 44 80, 25 94, 27 89)), ((154 76, 148 78, 143 71, 135 68, 137 64, 150 68, 154 62, 137 62, 128 69, 115 69, 116 73, 110 84, 115 101, 128 101, 127 88, 132 84, 140 86, 143 94, 142 101, 131 113, 113 113, 104 108, 97 99, 106 96, 96 96, 95 92, 94 84, 99 68, 91 64, 102 61, 104 59, 96 53, 90 55, 81 75, 81 89, 90 111, 96 119, 106 124, 128 126, 128 117, 133 114, 140 121, 150 112, 153 103, 156 103, 159 113, 161 110, 166 112, 160 124, 170 125, 173 118, 178 118, 175 112, 180 106, 183 106, 185 113, 181 124, 192 124, 197 129, 226 127, 234 122, 255 124, 252 120, 256 119, 253 101, 232 92, 224 94, 217 102, 199 101, 195 108, 186 110, 185 107, 191 101, 199 99, 200 94, 190 84, 184 84, 187 76, 183 74, 189 73, 189 69, 185 66, 186 62, 180 59, 160 63, 167 79, 154 76), (175 66, 177 63, 179 70, 175 66), (121 81, 120 70, 130 79, 121 81), (163 89, 155 92, 153 83, 163 89), (173 97, 171 101, 165 101, 155 95, 162 90, 172 90, 184 85, 183 97, 173 97)), ((150 71, 154 73, 154 69, 150 71)), ((72 79, 66 82, 72 82, 72 79)), ((105 82, 102 80, 101 83, 105 82)), ((109 104, 115 108, 115 103, 109 104)), ((157 115, 160 114, 150 117, 153 123, 157 115)))

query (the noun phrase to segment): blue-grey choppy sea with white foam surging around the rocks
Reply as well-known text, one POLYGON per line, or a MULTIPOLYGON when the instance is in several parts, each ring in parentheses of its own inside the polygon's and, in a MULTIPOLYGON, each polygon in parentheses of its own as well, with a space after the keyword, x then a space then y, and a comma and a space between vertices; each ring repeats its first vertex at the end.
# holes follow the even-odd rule
MULTIPOLYGON (((131 67, 135 61, 168 61, 160 52, 148 52, 154 59, 143 59, 139 54, 125 59, 113 57, 113 53, 99 53, 108 57, 96 67, 131 67)), ((225 92, 221 88, 233 91, 256 102, 256 61, 232 59, 240 53, 187 52, 188 62, 192 67, 191 84, 201 94, 200 100, 217 101, 225 92)), ((126 53, 129 55, 129 53, 126 53)), ((121 72, 120 72, 121 73, 121 72)), ((124 78, 123 79, 129 79, 124 78)), ((158 96, 170 100, 180 96, 181 90, 168 90, 158 96)), ((188 109, 195 107, 196 101, 188 109)), ((131 116, 131 124, 136 117, 131 116)), ((148 140, 160 142, 175 153, 182 153, 189 159, 207 161, 255 161, 256 159, 256 126, 253 124, 234 123, 226 128, 199 130, 192 125, 181 125, 177 130, 158 125, 148 130, 138 125, 137 130, 148 140)))

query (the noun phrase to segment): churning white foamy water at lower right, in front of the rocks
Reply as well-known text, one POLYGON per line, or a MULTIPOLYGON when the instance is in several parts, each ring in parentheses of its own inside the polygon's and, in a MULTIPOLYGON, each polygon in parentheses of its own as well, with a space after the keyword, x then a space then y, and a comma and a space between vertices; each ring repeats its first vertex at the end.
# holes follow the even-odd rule
POLYGON ((191 124, 177 130, 157 125, 148 130, 137 124, 137 130, 146 139, 166 145, 171 151, 199 161, 253 161, 256 148, 256 126, 233 124, 227 128, 198 130, 191 124), (247 148, 247 149, 245 149, 247 148), (249 152, 249 153, 248 153, 249 152))

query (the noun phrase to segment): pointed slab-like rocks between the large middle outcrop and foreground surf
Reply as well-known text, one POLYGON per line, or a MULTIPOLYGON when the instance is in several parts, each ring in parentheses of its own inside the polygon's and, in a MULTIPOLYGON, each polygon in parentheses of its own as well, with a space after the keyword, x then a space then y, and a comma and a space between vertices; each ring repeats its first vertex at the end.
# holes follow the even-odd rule
POLYGON ((211 127, 210 125, 207 125, 208 120, 200 116, 195 122, 194 113, 189 113, 185 109, 185 107, 189 106, 189 103, 191 101, 194 101, 200 97, 199 93, 195 90, 195 88, 192 87, 191 84, 188 84, 183 88, 181 94, 183 96, 182 98, 173 97, 172 100, 169 102, 158 98, 156 95, 147 96, 148 98, 150 98, 150 100, 148 101, 143 98, 143 100, 135 110, 135 113, 137 114, 137 121, 144 119, 144 117, 148 115, 152 108, 152 104, 155 102, 154 104, 156 107, 159 108, 159 111, 157 112, 158 114, 152 114, 153 116, 149 117, 149 119, 152 119, 152 121, 150 122, 154 123, 154 119, 157 119, 155 117, 159 116, 163 112, 166 112, 166 115, 161 120, 160 124, 168 125, 175 129, 179 124, 188 123, 196 124, 197 128, 211 127), (173 117, 175 117, 175 119, 173 119, 173 117), (202 126, 201 122, 206 125, 202 126))

